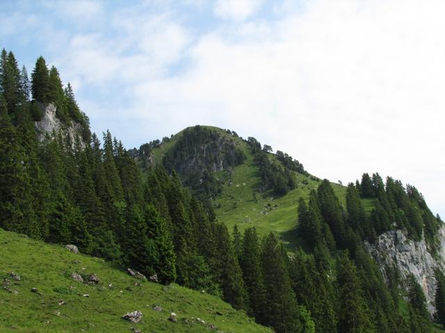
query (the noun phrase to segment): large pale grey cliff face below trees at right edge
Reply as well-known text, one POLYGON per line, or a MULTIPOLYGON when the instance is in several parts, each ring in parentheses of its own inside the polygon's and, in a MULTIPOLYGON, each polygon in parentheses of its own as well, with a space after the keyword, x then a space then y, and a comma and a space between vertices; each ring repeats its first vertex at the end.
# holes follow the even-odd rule
POLYGON ((416 242, 407 239, 401 230, 385 232, 378 237, 375 244, 366 243, 369 253, 379 264, 385 275, 385 266, 393 265, 401 272, 402 278, 412 273, 425 292, 428 311, 435 311, 434 296, 436 280, 434 269, 445 267, 445 225, 439 229, 440 247, 437 257, 428 252, 425 239, 416 242))

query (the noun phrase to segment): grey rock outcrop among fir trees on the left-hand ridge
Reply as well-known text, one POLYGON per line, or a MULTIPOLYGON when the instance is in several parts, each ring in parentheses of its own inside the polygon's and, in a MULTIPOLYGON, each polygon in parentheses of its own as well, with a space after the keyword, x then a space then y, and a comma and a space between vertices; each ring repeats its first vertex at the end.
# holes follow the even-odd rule
POLYGON ((45 135, 54 137, 54 133, 62 133, 69 139, 72 146, 76 140, 79 140, 81 147, 85 147, 86 144, 83 141, 81 135, 81 126, 79 123, 72 123, 71 126, 65 125, 56 115, 56 105, 54 103, 49 103, 47 105, 41 105, 42 108, 42 119, 40 121, 35 121, 35 128, 37 129, 38 139, 42 141, 45 135))

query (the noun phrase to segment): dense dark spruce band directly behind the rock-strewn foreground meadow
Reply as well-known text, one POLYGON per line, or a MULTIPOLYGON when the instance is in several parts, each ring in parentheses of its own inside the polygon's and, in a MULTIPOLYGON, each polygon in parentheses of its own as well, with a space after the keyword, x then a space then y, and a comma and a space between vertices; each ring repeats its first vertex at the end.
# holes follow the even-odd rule
MULTIPOLYGON (((1 228, 76 244, 82 253, 156 273, 160 282, 213 293, 278 333, 430 332, 415 280, 407 294, 410 317, 403 318, 396 272, 387 287, 364 250, 372 220, 354 185, 348 187, 346 211, 327 180, 311 192, 309 203, 300 200, 298 237, 311 254, 298 250, 289 257, 274 234, 259 239, 253 228, 243 235, 235 229, 231 236, 174 169, 156 166, 143 182, 131 152, 108 131, 102 142, 95 134, 84 137, 85 146, 62 133, 39 142, 33 105, 67 104, 62 95, 55 100, 55 90, 41 89, 46 75, 40 58, 28 85, 33 100, 23 93, 26 85, 13 89, 10 82, 17 81, 10 73, 17 66, 3 65, 13 63, 8 54, 4 61, 2 55, 0 73, 1 228)), ((437 273, 437 280, 437 320, 443 322, 443 275, 437 273)))

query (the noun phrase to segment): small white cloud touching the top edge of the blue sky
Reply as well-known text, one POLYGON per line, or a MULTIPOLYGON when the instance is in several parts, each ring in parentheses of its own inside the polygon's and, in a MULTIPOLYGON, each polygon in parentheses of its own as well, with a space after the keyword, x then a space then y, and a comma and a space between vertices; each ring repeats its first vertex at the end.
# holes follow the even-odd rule
POLYGON ((217 0, 213 12, 223 19, 242 21, 257 12, 262 2, 261 0, 217 0))

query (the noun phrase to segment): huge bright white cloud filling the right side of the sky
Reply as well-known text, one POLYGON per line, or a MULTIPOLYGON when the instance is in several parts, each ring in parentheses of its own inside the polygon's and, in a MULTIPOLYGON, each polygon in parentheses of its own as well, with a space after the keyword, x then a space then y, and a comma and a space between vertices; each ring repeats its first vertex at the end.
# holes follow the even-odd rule
POLYGON ((241 42, 216 31, 190 50, 184 74, 138 85, 135 108, 165 128, 212 123, 255 135, 334 181, 365 171, 401 178, 443 213, 444 10, 321 0, 256 34, 249 26, 241 42))

